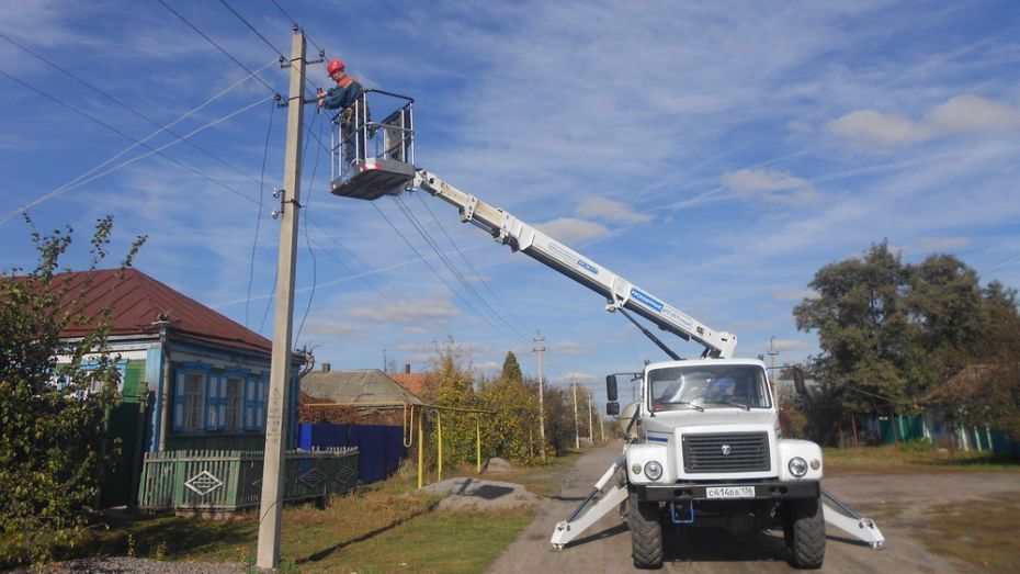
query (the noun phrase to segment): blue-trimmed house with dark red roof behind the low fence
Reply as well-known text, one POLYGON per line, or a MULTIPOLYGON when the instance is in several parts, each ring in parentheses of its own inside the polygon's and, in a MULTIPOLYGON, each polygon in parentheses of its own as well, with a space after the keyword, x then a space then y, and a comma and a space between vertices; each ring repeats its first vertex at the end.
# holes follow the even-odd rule
MULTIPOLYGON (((264 448, 269 339, 136 269, 94 271, 86 289, 87 275, 66 273, 57 283, 70 281, 69 296, 84 302, 86 316, 107 305, 113 311, 109 351, 123 398, 111 429, 122 440, 122 457, 104 484, 104 506, 134 502, 143 452, 264 448)), ((89 328, 73 325, 60 337, 75 339, 89 328)), ((292 354, 288 447, 295 444, 303 363, 292 354)))

